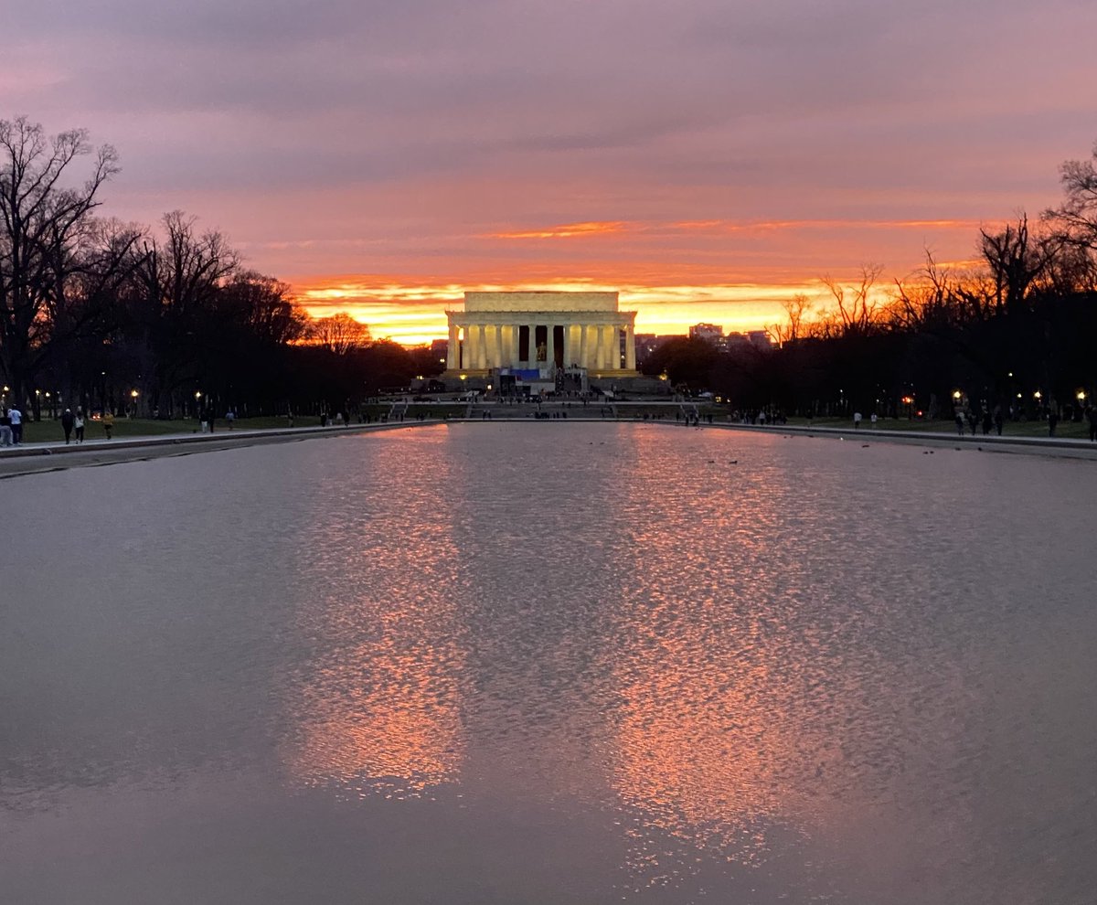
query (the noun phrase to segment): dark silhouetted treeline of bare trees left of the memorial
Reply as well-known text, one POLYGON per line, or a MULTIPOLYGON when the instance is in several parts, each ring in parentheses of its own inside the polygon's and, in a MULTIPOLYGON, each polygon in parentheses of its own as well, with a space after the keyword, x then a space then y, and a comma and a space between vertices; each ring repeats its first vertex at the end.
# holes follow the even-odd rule
POLYGON ((313 320, 285 283, 180 212, 155 229, 98 218, 117 170, 115 150, 83 131, 0 121, 4 403, 34 417, 77 405, 165 418, 344 410, 441 370, 347 315, 313 320))

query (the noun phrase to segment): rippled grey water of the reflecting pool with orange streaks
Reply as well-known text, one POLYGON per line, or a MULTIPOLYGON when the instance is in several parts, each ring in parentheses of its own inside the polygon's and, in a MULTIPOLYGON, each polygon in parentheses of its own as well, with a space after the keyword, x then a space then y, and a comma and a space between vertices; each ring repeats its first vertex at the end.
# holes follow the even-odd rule
POLYGON ((1093 903, 1095 502, 558 422, 0 482, 0 898, 1093 903))

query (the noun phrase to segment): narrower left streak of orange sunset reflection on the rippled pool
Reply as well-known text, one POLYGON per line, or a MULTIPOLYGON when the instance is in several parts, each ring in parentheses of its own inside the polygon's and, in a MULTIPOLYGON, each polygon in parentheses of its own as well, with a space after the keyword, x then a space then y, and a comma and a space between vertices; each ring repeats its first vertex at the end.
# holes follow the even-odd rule
MULTIPOLYGON (((386 444, 377 473, 398 473, 409 443, 437 440, 386 444)), ((403 488, 398 506, 385 506, 386 495, 360 475, 332 478, 331 491, 361 500, 330 511, 318 505, 302 540, 323 606, 303 609, 315 655, 290 702, 296 726, 284 759, 308 784, 421 794, 455 778, 465 745, 451 513, 426 486, 403 488)))

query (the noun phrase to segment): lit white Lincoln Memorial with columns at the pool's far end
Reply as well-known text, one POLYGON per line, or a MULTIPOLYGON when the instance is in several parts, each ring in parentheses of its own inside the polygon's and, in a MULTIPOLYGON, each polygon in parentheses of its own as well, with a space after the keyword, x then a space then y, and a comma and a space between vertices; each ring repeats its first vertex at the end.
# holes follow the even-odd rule
POLYGON ((464 309, 446 317, 449 377, 502 369, 636 376, 636 313, 618 310, 615 292, 466 292, 464 309))

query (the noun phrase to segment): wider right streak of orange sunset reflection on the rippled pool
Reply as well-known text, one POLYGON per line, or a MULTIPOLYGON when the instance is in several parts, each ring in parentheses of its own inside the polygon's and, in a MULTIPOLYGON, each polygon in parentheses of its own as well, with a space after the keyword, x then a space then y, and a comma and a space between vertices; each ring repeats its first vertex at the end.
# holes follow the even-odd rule
POLYGON ((829 756, 805 712, 803 690, 821 668, 812 641, 790 640, 799 630, 785 623, 788 596, 773 592, 793 587, 800 567, 759 546, 780 534, 788 488, 740 477, 732 498, 699 494, 691 476, 666 473, 651 437, 636 442, 645 483, 632 495, 645 508, 624 566, 632 587, 610 765, 611 784, 640 814, 632 867, 656 871, 669 855, 661 834, 759 863, 774 835, 802 835, 806 760, 815 780, 829 756))

